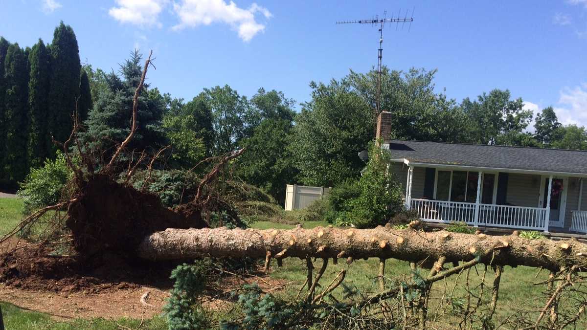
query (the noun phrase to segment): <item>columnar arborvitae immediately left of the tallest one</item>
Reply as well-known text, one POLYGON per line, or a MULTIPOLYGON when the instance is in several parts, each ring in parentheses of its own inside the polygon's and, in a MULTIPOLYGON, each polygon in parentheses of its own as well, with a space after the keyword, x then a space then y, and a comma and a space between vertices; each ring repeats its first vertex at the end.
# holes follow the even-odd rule
POLYGON ((47 114, 49 112, 49 50, 41 39, 31 49, 29 63, 29 167, 41 166, 49 156, 50 137, 47 134, 47 114))

